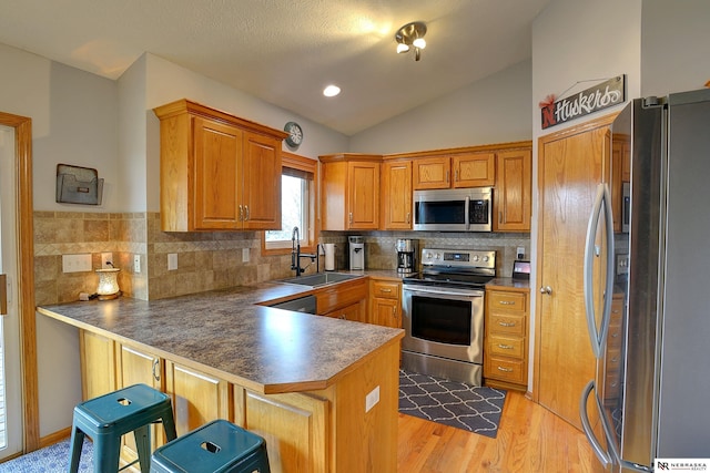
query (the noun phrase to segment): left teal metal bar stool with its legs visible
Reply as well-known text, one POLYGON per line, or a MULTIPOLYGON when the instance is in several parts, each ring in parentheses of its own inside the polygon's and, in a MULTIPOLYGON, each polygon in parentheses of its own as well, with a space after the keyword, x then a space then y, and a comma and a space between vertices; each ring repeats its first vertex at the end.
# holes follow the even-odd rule
POLYGON ((178 435, 170 395, 145 384, 134 384, 77 404, 71 430, 69 473, 77 473, 79 470, 85 435, 93 440, 94 473, 118 472, 121 435, 130 432, 135 435, 141 471, 148 473, 151 456, 150 424, 161 420, 168 440, 174 440, 178 435))

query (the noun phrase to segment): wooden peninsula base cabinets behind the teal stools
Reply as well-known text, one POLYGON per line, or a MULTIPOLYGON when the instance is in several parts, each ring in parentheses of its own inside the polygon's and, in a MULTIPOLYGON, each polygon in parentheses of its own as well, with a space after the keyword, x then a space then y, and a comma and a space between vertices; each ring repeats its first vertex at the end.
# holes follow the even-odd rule
MULTIPOLYGON (((80 343, 85 393, 153 385, 173 399, 178 435, 226 419, 266 440, 273 473, 396 471, 398 343, 384 346, 323 390, 272 394, 87 330, 80 330, 80 343), (379 400, 368 407, 373 392, 379 400)), ((162 426, 152 432, 153 448, 165 442, 162 426)), ((135 459, 133 435, 124 435, 121 466, 135 459)))

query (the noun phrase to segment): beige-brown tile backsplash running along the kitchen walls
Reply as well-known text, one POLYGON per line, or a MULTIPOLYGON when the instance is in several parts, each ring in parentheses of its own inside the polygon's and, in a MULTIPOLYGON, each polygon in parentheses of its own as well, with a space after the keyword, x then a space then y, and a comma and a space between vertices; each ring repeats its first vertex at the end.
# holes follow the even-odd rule
MULTIPOLYGON (((323 232, 321 243, 336 244, 336 269, 347 269, 347 236, 363 235, 368 269, 397 267, 397 238, 418 240, 423 247, 494 249, 497 275, 510 276, 516 248, 530 250, 528 234, 458 234, 435 232, 323 232)), ((159 213, 34 213, 34 278, 38 305, 68 302, 80 292, 93 294, 95 271, 62 273, 62 255, 91 254, 92 268, 101 267, 101 253, 111 251, 121 269, 119 286, 128 297, 151 300, 248 285, 292 275, 291 255, 261 254, 258 232, 165 233, 159 213), (248 261, 243 250, 248 248, 248 261), (170 254, 178 269, 168 269, 170 254), (141 258, 134 271, 134 256, 141 258)))

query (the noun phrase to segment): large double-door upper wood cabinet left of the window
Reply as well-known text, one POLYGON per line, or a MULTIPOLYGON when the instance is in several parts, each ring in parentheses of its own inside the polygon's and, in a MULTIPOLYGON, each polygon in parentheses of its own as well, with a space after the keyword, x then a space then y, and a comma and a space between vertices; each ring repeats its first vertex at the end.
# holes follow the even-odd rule
POLYGON ((187 100, 154 112, 164 232, 281 228, 285 132, 187 100))

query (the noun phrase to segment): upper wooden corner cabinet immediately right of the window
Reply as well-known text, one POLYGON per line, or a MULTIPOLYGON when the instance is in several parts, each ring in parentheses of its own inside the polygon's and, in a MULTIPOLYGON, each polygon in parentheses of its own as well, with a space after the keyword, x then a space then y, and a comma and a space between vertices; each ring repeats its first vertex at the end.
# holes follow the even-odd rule
POLYGON ((321 156, 324 230, 379 228, 381 161, 378 155, 321 156))

